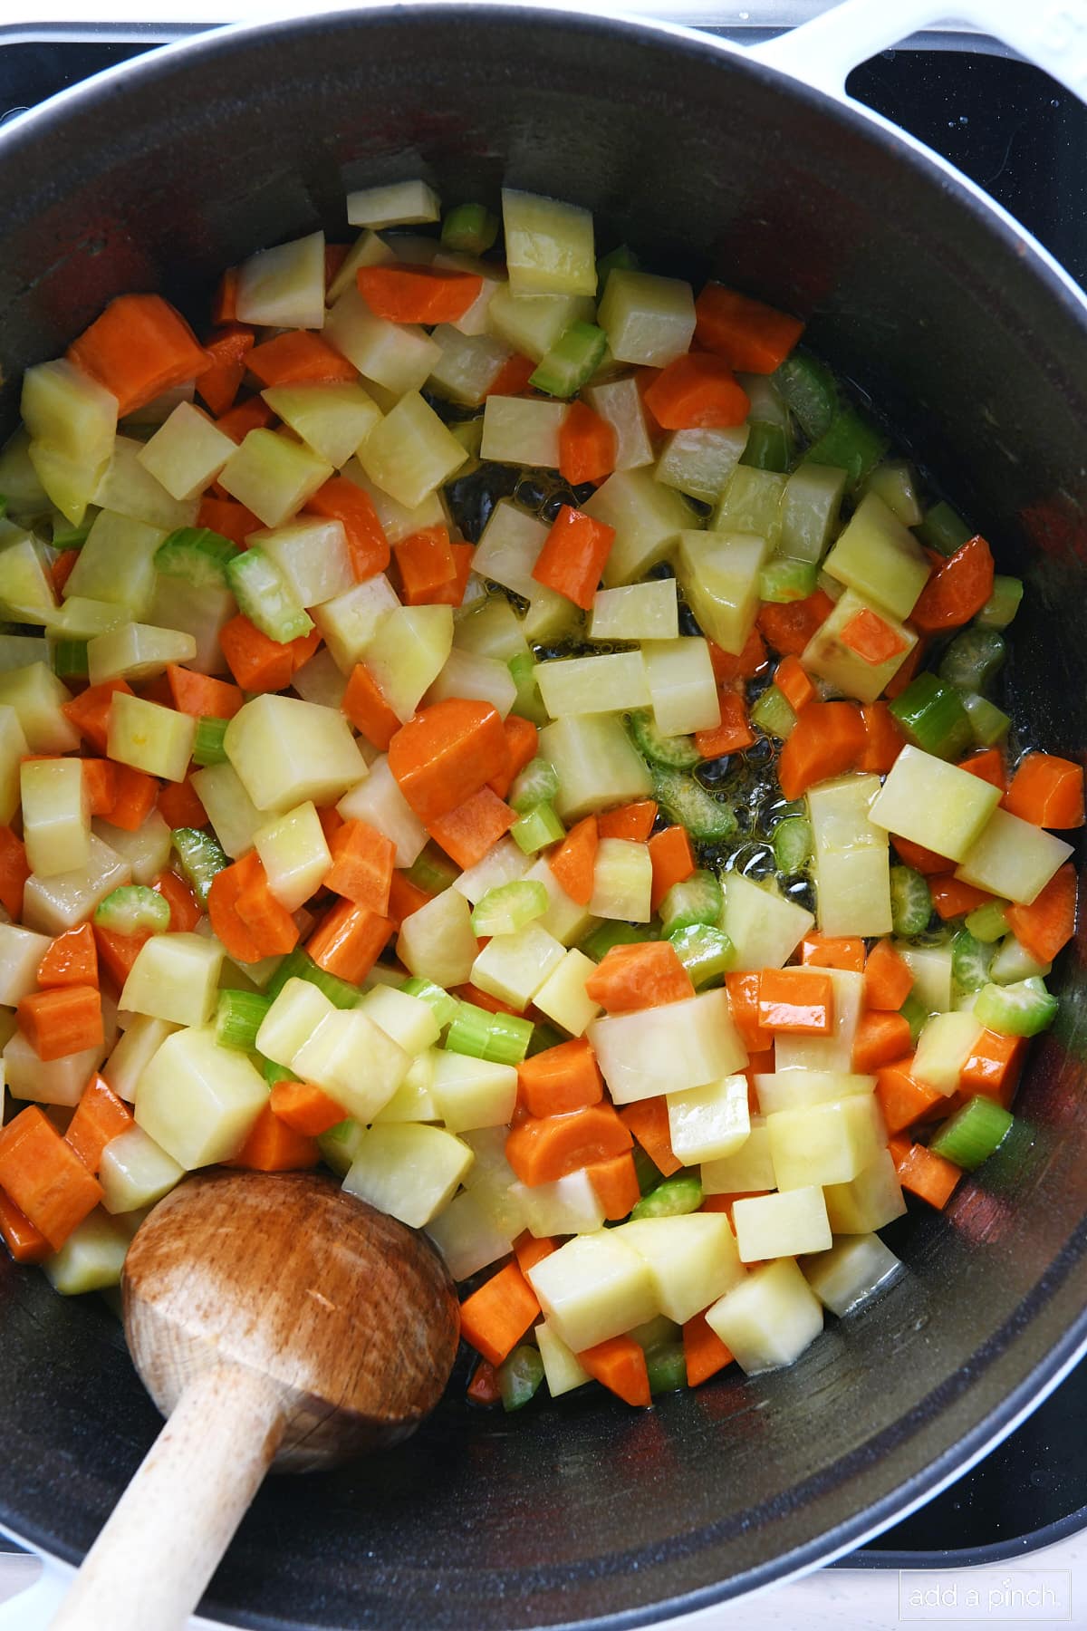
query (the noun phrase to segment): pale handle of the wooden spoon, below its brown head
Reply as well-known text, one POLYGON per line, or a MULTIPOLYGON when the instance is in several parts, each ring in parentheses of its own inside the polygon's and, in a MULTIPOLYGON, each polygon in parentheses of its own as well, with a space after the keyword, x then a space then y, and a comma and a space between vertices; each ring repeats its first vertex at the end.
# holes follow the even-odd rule
POLYGON ((88 1551, 52 1631, 174 1631, 196 1608, 284 1435, 282 1390, 197 1377, 88 1551))

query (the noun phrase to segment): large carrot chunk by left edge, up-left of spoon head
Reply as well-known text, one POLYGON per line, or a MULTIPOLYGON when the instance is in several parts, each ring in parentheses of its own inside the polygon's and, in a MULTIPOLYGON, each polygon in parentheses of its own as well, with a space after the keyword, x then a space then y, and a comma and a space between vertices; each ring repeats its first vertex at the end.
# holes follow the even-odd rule
POLYGON ((98 1179, 36 1104, 0 1129, 0 1189, 54 1251, 103 1197, 98 1179))

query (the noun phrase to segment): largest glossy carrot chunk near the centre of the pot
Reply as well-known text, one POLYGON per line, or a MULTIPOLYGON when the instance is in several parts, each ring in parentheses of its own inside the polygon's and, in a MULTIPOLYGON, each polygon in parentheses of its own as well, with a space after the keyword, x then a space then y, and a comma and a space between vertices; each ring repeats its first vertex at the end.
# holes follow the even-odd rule
POLYGON ((450 696, 419 708, 389 742, 389 770, 425 827, 504 768, 502 714, 476 698, 450 696))

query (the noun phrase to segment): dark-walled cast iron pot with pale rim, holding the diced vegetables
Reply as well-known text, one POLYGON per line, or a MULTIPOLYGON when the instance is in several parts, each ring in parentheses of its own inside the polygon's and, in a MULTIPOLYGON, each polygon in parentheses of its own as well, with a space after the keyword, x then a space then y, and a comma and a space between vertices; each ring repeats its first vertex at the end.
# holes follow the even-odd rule
MULTIPOLYGON (((890 42, 888 34, 883 42, 890 42)), ((112 295, 194 316, 217 272, 424 175, 592 207, 598 241, 810 316, 808 339, 1028 579, 1012 696, 1087 739, 1085 308, 1053 264, 888 127, 691 34, 507 7, 375 8, 209 36, 0 135, 3 429, 18 375, 112 295)), ((962 1471, 1087 1336, 1082 939, 1020 1125, 908 1272, 790 1370, 629 1411, 474 1414, 272 1479, 205 1600, 243 1626, 637 1624, 849 1549, 962 1471)), ((0 1254, 0 1522, 78 1559, 158 1430, 117 1324, 0 1254)))

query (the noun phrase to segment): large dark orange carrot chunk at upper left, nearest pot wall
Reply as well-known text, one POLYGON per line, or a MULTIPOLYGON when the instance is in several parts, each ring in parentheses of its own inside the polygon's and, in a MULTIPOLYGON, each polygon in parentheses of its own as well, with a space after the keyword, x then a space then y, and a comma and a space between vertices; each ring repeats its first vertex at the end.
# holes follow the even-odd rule
POLYGON ((68 357, 117 398, 121 419, 199 378, 212 360, 161 295, 117 295, 68 346, 68 357))

